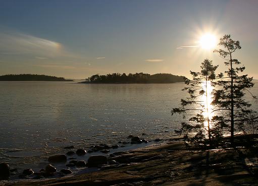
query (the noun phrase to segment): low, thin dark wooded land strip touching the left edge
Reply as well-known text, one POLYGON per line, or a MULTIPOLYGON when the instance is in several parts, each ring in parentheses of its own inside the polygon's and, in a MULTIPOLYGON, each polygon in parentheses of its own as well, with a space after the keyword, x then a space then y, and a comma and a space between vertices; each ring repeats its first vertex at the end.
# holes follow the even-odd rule
POLYGON ((55 76, 37 75, 37 74, 8 74, 0 76, 0 81, 73 81, 55 76))

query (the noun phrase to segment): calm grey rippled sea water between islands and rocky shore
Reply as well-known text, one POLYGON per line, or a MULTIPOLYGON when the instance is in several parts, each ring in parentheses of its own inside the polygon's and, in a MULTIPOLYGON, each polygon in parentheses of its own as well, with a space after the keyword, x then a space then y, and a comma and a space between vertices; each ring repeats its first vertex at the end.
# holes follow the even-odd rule
MULTIPOLYGON (((170 111, 186 97, 184 86, 0 82, 0 162, 26 167, 64 146, 117 144, 130 134, 171 137, 181 116, 170 111)), ((257 94, 258 86, 251 92, 257 94)))

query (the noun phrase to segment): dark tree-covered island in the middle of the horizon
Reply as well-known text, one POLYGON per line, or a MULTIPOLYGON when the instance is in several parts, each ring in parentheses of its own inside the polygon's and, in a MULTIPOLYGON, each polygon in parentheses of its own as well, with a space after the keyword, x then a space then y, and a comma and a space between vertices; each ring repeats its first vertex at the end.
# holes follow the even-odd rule
POLYGON ((176 76, 172 74, 144 74, 144 73, 135 73, 128 74, 125 73, 113 73, 107 75, 93 75, 89 78, 86 78, 84 82, 80 83, 178 83, 184 82, 184 76, 176 76))

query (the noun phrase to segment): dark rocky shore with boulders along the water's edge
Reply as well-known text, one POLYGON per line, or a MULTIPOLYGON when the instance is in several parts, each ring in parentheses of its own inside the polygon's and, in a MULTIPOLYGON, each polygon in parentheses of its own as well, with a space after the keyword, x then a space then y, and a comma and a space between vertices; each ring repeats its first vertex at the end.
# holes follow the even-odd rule
MULTIPOLYGON (((142 143, 133 138, 132 142, 142 143)), ((258 185, 257 138, 238 136, 236 148, 211 150, 186 149, 182 139, 170 139, 136 150, 92 155, 87 162, 59 154, 50 156, 49 164, 38 172, 24 170, 24 175, 37 179, 3 181, 2 185, 258 185), (57 162, 68 166, 57 170, 51 165, 57 162), (71 174, 74 166, 85 168, 71 174), (54 174, 63 177, 50 178, 54 174)), ((74 153, 83 156, 86 152, 74 153)), ((1 176, 4 170, 13 171, 2 163, 1 176)))

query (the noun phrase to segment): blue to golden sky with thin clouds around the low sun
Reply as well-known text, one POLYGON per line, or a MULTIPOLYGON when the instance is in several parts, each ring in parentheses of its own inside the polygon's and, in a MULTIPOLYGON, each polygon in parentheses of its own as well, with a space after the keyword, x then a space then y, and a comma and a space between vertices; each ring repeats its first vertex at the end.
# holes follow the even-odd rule
POLYGON ((205 58, 226 70, 205 33, 231 34, 245 73, 258 79, 256 0, 1 0, 0 75, 171 73, 189 77, 205 58), (192 46, 192 47, 184 47, 192 46))

